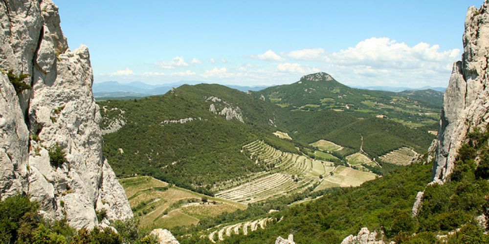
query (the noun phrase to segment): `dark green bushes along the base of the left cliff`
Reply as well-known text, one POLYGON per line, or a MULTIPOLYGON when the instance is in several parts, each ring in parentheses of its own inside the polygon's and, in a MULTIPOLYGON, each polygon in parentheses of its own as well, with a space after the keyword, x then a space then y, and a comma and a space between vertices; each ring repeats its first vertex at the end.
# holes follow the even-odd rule
POLYGON ((36 244, 156 244, 154 237, 146 237, 148 232, 137 229, 137 221, 117 221, 114 227, 76 231, 66 221, 43 219, 38 213, 39 204, 29 201, 27 196, 13 196, 0 202, 0 242, 36 244))

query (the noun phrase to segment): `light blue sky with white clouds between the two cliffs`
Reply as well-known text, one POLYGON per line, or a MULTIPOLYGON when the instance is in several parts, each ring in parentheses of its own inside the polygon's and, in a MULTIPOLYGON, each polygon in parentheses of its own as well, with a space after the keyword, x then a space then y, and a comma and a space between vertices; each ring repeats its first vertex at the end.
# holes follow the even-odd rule
POLYGON ((447 86, 483 0, 54 0, 94 82, 447 86))

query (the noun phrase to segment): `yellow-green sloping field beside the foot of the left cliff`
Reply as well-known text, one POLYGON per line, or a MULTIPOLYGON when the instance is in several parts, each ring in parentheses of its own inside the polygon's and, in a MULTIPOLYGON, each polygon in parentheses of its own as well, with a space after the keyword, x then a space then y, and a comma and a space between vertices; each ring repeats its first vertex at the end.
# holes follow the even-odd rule
POLYGON ((119 182, 134 215, 141 218, 141 226, 170 228, 197 224, 202 218, 246 208, 240 203, 207 197, 148 176, 124 178, 119 182))

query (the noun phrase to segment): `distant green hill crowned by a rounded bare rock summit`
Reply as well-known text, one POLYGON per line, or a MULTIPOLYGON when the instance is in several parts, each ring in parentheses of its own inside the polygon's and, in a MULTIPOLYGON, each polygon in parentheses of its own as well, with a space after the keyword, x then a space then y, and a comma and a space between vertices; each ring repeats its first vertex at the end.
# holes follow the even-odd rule
POLYGON ((292 111, 333 110, 356 117, 386 117, 413 128, 436 128, 443 102, 443 94, 434 90, 395 93, 356 89, 326 73, 306 75, 295 83, 252 94, 292 111))

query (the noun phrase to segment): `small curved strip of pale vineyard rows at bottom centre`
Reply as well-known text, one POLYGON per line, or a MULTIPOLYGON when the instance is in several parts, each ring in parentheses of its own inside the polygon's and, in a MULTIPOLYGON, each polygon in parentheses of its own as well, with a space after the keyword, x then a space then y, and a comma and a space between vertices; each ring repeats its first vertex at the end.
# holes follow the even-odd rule
POLYGON ((208 236, 201 236, 202 238, 207 237, 212 243, 216 241, 224 241, 225 236, 234 235, 247 235, 248 232, 253 232, 258 229, 258 227, 265 229, 267 224, 276 221, 273 218, 264 218, 254 221, 242 222, 238 224, 226 225, 220 229, 214 230, 208 236))

